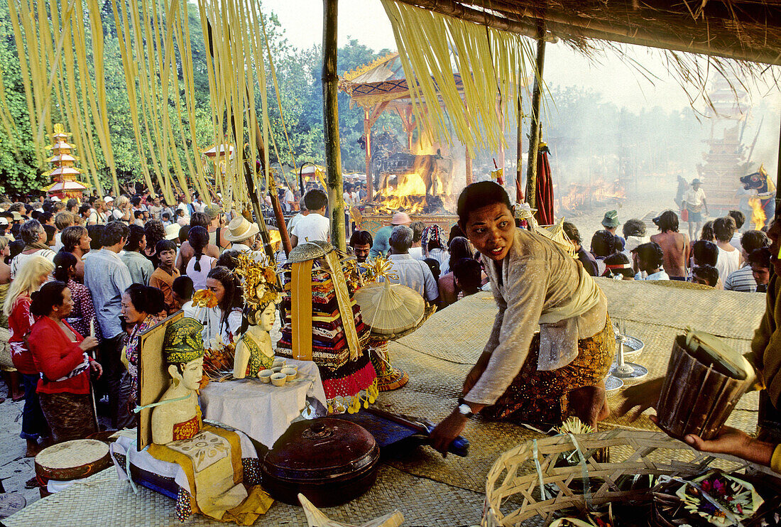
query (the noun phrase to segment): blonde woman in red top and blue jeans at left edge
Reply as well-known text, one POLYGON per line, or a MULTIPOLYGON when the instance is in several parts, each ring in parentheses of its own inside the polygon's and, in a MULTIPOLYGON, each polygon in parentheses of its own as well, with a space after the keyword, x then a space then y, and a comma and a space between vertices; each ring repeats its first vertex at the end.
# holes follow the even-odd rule
POLYGON ((21 266, 16 274, 16 279, 11 283, 8 297, 5 298, 3 314, 8 317, 11 336, 9 346, 14 367, 22 376, 24 387, 24 409, 22 411, 22 433, 20 437, 27 440, 27 453, 25 457, 34 458, 41 447, 38 445, 39 437, 48 436, 48 424, 41 411, 36 388, 38 384, 38 370, 33 362, 33 355, 27 349, 24 337, 30 333, 30 328, 35 320, 30 314, 30 295, 41 288, 41 285, 49 280, 54 271, 54 264, 43 256, 33 256, 21 266))

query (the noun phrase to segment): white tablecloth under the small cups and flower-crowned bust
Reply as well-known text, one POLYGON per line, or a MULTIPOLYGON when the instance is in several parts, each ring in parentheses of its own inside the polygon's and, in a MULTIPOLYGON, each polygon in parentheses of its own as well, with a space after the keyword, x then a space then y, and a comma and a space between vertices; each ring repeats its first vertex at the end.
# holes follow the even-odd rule
POLYGON ((312 397, 326 406, 326 392, 317 365, 312 361, 288 358, 298 365, 298 376, 284 386, 262 383, 260 379, 235 379, 209 383, 201 390, 203 417, 224 422, 241 430, 266 447, 287 430, 312 397))

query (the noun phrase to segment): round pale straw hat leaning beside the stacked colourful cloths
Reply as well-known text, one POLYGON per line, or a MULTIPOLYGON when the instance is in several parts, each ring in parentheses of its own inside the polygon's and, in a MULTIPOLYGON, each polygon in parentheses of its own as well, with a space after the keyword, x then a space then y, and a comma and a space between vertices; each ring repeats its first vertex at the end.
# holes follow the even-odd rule
POLYGON ((391 335, 415 327, 426 308, 423 297, 400 283, 370 283, 355 291, 363 322, 373 333, 391 335))

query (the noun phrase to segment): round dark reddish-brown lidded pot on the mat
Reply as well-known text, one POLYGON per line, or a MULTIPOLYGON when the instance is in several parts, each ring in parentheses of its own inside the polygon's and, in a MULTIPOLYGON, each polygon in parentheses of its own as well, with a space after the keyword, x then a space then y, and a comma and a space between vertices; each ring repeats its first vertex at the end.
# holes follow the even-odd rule
POLYGON ((371 488, 379 461, 374 437, 354 422, 294 422, 263 459, 263 489, 291 505, 298 493, 318 507, 346 504, 371 488))

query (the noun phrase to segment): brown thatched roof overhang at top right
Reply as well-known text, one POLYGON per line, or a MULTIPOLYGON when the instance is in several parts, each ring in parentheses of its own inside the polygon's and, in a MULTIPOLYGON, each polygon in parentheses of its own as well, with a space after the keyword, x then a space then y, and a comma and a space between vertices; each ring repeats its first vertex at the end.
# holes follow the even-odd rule
POLYGON ((781 64, 777 0, 398 1, 529 37, 558 37, 580 48, 597 39, 781 64))

